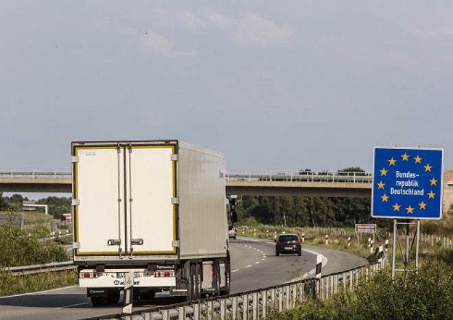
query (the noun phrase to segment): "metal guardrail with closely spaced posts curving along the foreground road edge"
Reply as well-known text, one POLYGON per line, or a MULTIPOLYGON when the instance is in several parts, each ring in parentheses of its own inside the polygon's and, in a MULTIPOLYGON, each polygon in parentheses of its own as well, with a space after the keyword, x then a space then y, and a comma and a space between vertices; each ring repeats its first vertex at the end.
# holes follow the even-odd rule
POLYGON ((271 312, 284 312, 310 297, 329 299, 342 289, 353 290, 360 279, 373 278, 386 264, 387 257, 382 262, 332 273, 321 279, 303 279, 246 293, 137 310, 128 315, 119 313, 85 320, 265 319, 271 312))

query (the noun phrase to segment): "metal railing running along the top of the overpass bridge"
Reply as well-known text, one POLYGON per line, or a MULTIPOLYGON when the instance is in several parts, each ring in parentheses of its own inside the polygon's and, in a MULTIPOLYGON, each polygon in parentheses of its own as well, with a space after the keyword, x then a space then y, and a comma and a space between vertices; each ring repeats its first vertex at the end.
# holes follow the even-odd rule
MULTIPOLYGON (((227 171, 227 181, 305 181, 371 183, 367 172, 313 172, 313 171, 227 171)), ((17 169, 0 168, 0 178, 70 179, 70 169, 17 169)))

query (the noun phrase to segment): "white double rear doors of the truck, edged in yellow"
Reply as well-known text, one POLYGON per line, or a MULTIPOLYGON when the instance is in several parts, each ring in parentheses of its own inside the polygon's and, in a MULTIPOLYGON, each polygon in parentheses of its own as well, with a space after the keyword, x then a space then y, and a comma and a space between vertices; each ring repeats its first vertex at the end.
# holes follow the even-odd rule
POLYGON ((175 144, 73 143, 75 260, 176 254, 175 144))

